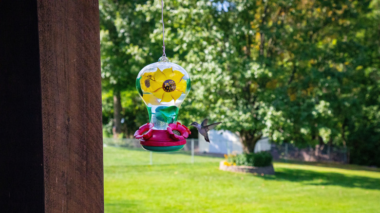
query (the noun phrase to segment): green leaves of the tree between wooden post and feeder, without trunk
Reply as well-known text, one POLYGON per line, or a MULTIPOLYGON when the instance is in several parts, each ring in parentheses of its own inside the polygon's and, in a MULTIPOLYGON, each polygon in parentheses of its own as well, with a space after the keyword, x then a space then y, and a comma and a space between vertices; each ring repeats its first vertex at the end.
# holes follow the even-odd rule
POLYGON ((124 118, 121 129, 129 137, 142 124, 149 121, 146 107, 138 97, 135 88, 137 73, 147 63, 154 60, 152 51, 145 44, 150 44, 153 20, 147 21, 146 15, 138 9, 143 0, 100 0, 100 48, 102 91, 107 93, 102 99, 103 124, 106 132, 112 134, 114 123, 113 94, 121 92, 124 118))

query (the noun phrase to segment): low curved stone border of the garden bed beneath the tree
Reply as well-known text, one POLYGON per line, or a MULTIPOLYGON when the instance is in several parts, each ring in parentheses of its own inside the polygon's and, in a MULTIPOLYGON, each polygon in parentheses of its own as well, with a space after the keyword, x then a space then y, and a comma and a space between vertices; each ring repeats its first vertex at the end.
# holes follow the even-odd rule
POLYGON ((256 167, 256 166, 236 166, 236 165, 226 165, 225 160, 220 161, 219 169, 229 172, 245 172, 245 173, 257 173, 264 175, 274 175, 273 164, 270 166, 256 167))

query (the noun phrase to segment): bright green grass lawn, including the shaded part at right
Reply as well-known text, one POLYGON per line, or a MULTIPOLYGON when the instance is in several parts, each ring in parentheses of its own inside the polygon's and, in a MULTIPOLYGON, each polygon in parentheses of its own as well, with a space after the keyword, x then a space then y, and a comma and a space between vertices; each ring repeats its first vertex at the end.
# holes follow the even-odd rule
POLYGON ((276 175, 220 171, 221 158, 104 147, 106 213, 378 213, 380 169, 275 162, 276 175))

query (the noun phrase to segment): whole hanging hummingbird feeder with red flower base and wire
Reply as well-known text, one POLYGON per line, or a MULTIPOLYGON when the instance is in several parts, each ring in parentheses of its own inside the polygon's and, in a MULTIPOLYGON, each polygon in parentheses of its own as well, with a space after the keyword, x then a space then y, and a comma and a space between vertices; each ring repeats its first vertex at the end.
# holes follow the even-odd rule
MULTIPOLYGON (((161 6, 163 21, 163 1, 161 6)), ((177 122, 179 107, 190 91, 190 76, 166 57, 164 32, 162 57, 144 67, 136 79, 136 89, 148 109, 149 123, 140 126, 133 136, 145 150, 155 152, 182 149, 190 134, 185 125, 177 122)))

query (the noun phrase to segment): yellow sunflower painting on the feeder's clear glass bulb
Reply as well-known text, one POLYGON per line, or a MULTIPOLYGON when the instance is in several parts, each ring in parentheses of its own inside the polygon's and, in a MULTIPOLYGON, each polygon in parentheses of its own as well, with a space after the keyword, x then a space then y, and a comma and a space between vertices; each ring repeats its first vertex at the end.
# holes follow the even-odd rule
POLYGON ((160 102, 176 101, 186 91, 186 80, 182 79, 183 76, 182 72, 173 71, 173 68, 163 71, 157 68, 157 71, 147 72, 141 76, 141 89, 161 99, 160 102))

